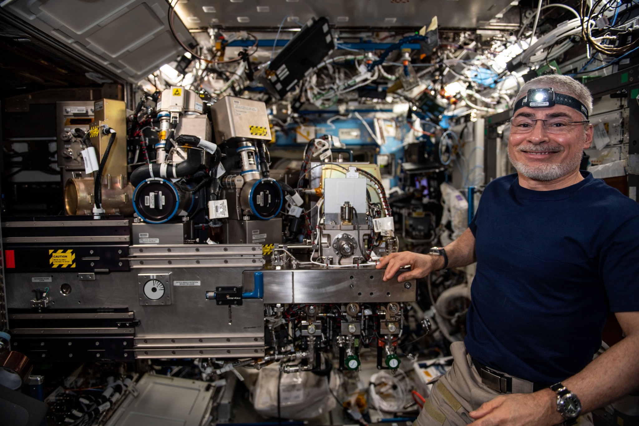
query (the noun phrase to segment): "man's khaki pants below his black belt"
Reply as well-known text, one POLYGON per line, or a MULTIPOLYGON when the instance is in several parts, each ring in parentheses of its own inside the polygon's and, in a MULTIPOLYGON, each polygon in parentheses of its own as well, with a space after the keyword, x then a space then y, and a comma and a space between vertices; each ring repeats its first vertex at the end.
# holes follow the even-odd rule
MULTIPOLYGON (((452 368, 431 381, 431 395, 415 421, 417 426, 468 425, 474 421, 468 415, 470 411, 501 395, 481 383, 463 342, 450 345, 450 352, 454 361, 452 368)), ((577 424, 592 426, 592 416, 581 416, 577 424)))

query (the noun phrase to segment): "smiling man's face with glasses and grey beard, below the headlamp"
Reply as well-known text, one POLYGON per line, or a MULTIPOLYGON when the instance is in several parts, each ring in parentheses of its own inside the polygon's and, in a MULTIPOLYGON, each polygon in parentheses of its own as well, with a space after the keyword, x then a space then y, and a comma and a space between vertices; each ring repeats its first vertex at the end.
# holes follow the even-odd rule
MULTIPOLYGON (((548 108, 523 107, 514 114, 513 123, 522 118, 563 123, 585 119, 580 112, 566 105, 548 108)), ((568 124, 562 133, 553 133, 544 128, 542 121, 532 123, 535 123, 532 128, 515 128, 514 124, 511 127, 508 158, 515 169, 527 178, 537 181, 553 181, 576 171, 581 162, 581 151, 589 148, 592 142, 592 125, 585 127, 582 123, 568 124), (523 129, 529 131, 522 132, 523 129)))

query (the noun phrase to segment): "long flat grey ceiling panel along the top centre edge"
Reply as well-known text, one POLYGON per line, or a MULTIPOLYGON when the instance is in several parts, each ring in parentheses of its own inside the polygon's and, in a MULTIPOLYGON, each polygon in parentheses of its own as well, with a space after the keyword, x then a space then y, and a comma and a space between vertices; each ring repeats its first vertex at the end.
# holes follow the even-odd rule
POLYGON ((421 27, 436 16, 440 27, 485 25, 511 0, 187 0, 176 10, 187 27, 297 26, 327 17, 336 27, 421 27), (205 11, 206 10, 206 11, 205 11), (213 11, 215 10, 215 11, 213 11))

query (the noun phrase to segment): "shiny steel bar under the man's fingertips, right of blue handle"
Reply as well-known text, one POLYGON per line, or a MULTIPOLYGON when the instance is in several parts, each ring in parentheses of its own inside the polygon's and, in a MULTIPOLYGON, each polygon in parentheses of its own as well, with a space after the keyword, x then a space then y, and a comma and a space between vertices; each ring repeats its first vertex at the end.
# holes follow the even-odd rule
MULTIPOLYGON (((392 278, 383 282, 384 271, 374 268, 264 270, 264 303, 415 301, 415 280, 397 282, 392 278)), ((253 274, 254 271, 243 273, 244 291, 252 290, 253 274)))

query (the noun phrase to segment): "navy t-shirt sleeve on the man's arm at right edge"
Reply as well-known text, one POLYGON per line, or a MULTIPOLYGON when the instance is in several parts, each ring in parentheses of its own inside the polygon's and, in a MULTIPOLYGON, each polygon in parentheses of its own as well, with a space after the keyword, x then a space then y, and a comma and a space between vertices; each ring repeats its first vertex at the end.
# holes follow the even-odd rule
POLYGON ((639 311, 639 209, 606 237, 599 274, 612 312, 639 311))

